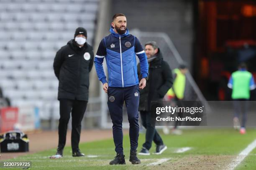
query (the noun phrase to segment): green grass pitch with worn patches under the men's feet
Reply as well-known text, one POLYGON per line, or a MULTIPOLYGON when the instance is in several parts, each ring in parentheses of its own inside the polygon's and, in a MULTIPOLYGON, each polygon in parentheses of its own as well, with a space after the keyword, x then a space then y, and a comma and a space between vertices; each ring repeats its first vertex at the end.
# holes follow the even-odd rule
MULTIPOLYGON (((168 149, 161 155, 138 155, 141 159, 140 165, 132 165, 129 162, 130 142, 128 135, 124 136, 123 147, 126 165, 109 165, 115 156, 113 139, 100 140, 80 144, 80 150, 85 153, 83 158, 73 158, 71 147, 65 147, 64 157, 61 159, 49 159, 54 155, 56 149, 46 150, 33 155, 27 155, 12 159, 10 161, 31 161, 35 170, 215 170, 225 169, 232 160, 256 139, 256 130, 248 129, 245 135, 239 134, 231 128, 222 129, 192 129, 184 130, 182 135, 163 135, 164 143, 168 149), (175 153, 178 148, 191 147, 184 153, 175 153), (97 156, 97 157, 93 157, 97 156), (169 159, 161 164, 149 165, 163 158, 169 159)), ((138 152, 141 149, 144 134, 139 136, 138 152)), ((67 139, 69 140, 69 139, 67 139)), ((46 144, 47 145, 47 144, 46 144)), ((40 146, 38 146, 40 147, 40 146)), ((154 153, 155 145, 150 150, 154 153)), ((236 167, 236 170, 256 169, 256 149, 254 149, 236 167)), ((21 168, 8 168, 21 169, 21 168)))

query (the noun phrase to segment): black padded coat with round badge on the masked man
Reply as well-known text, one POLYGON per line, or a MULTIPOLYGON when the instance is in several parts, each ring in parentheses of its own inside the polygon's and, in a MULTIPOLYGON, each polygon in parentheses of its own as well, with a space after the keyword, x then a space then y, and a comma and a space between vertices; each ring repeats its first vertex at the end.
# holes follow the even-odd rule
POLYGON ((54 73, 59 80, 58 100, 88 101, 89 72, 92 70, 94 53, 92 46, 78 47, 74 40, 61 47, 54 58, 54 73))

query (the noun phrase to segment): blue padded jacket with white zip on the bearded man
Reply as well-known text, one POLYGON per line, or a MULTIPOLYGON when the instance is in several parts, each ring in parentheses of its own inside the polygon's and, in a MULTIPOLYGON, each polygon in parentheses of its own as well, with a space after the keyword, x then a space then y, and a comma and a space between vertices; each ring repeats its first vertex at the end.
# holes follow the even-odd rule
POLYGON ((129 34, 128 29, 122 35, 110 28, 111 34, 104 37, 95 56, 95 69, 99 80, 107 82, 102 63, 106 58, 109 87, 129 87, 138 85, 136 55, 141 63, 142 78, 148 76, 148 61, 139 40, 129 34))

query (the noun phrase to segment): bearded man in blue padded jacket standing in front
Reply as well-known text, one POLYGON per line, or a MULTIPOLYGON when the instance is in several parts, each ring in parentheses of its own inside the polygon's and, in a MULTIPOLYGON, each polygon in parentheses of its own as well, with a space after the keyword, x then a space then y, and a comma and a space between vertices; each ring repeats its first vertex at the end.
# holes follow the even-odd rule
POLYGON ((123 155, 123 102, 127 107, 128 121, 130 123, 130 162, 139 164, 136 149, 138 147, 138 105, 139 89, 146 86, 148 76, 148 62, 146 54, 139 40, 129 34, 126 28, 126 17, 118 13, 113 16, 110 32, 104 37, 95 56, 95 68, 103 90, 108 93, 108 109, 113 122, 113 138, 115 143, 115 159, 110 165, 125 164, 123 155), (136 55, 141 63, 142 79, 138 81, 136 55), (108 82, 102 67, 106 59, 108 66, 108 82))

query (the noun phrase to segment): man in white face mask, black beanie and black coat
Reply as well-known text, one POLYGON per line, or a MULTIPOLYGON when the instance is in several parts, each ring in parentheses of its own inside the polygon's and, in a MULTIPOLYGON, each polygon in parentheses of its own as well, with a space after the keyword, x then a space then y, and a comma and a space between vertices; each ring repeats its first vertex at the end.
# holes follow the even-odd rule
POLYGON ((72 156, 84 156, 79 150, 81 122, 87 107, 89 72, 92 70, 94 54, 87 42, 87 31, 77 28, 74 39, 61 47, 54 58, 54 73, 59 80, 60 103, 59 144, 57 153, 50 158, 62 158, 66 143, 67 125, 72 115, 72 156))

